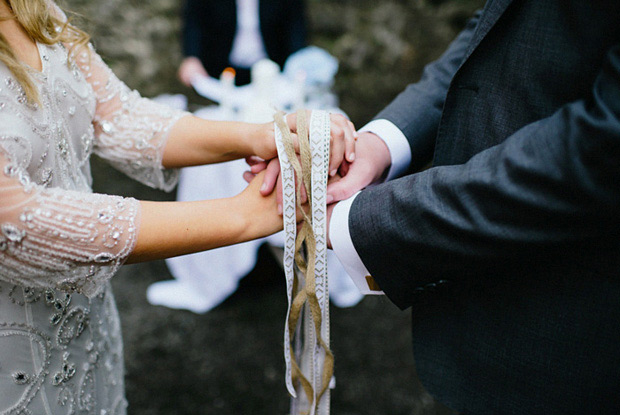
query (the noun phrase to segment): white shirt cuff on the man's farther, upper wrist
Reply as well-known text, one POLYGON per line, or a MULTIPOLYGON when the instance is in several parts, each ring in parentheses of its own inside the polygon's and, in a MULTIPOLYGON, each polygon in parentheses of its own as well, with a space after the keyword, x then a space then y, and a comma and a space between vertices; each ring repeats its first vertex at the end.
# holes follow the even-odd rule
POLYGON ((362 127, 359 132, 368 131, 381 138, 390 151, 392 165, 386 180, 402 175, 411 164, 411 147, 400 129, 388 120, 374 120, 362 127))

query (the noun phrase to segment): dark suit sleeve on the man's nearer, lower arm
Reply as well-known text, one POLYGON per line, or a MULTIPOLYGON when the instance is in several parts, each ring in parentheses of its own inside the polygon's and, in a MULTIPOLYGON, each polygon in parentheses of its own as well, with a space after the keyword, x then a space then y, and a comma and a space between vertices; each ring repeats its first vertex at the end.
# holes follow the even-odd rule
POLYGON ((620 45, 588 95, 465 164, 358 195, 353 243, 394 303, 411 305, 416 287, 438 279, 560 261, 617 240, 620 45))

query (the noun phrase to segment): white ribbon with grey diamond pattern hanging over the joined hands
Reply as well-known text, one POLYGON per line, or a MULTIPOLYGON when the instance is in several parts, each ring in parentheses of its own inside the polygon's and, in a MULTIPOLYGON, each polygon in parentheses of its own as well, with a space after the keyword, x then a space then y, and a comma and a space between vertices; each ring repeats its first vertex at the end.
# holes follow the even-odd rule
MULTIPOLYGON (((309 141, 312 154, 312 183, 311 183, 311 206, 312 206, 312 229, 316 239, 315 284, 316 297, 321 309, 320 337, 323 346, 329 348, 329 293, 326 262, 326 188, 329 166, 329 143, 330 143, 330 118, 325 111, 313 111, 310 118, 309 141)), ((286 361, 286 386, 292 396, 291 415, 301 414, 329 414, 329 388, 320 396, 317 403, 317 394, 324 387, 323 374, 327 351, 318 342, 315 332, 315 322, 308 305, 304 307, 303 319, 295 327, 295 360, 299 362, 301 372, 313 389, 312 401, 309 402, 307 394, 300 384, 294 384, 293 365, 295 364, 291 354, 291 331, 289 317, 291 306, 295 296, 295 253, 297 238, 296 201, 295 201, 295 175, 294 169, 284 148, 283 137, 280 129, 275 125, 276 146, 280 159, 282 174, 283 196, 283 221, 284 221, 284 272, 286 277, 288 310, 284 329, 284 359, 286 361), (302 329, 303 326, 303 329, 302 329)), ((301 178, 299 178, 301 180, 301 178)), ((301 278, 300 278, 301 280, 301 278)), ((298 285, 304 280, 298 282, 298 285)), ((303 289, 298 287, 297 290, 303 289)))

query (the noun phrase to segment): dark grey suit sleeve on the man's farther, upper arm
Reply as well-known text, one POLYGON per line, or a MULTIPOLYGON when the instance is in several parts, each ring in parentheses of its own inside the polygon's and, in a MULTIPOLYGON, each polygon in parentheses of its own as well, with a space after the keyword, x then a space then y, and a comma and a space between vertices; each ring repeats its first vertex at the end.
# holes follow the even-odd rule
POLYGON ((431 159, 448 87, 465 57, 480 14, 474 15, 437 61, 424 68, 419 82, 407 86, 375 117, 392 122, 403 132, 411 148, 413 170, 431 159))

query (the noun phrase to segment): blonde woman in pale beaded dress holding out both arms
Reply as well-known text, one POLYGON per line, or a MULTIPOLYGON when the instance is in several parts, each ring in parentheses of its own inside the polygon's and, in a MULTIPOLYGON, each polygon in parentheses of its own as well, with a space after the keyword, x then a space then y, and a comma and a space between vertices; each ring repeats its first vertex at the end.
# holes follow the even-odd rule
MULTIPOLYGON (((330 171, 354 150, 352 124, 332 124, 330 171)), ((201 202, 93 194, 92 153, 170 190, 176 167, 270 159, 276 148, 271 123, 206 121, 141 98, 51 0, 0 0, 1 414, 124 414, 108 282, 119 266, 282 227, 260 178, 201 202)))

